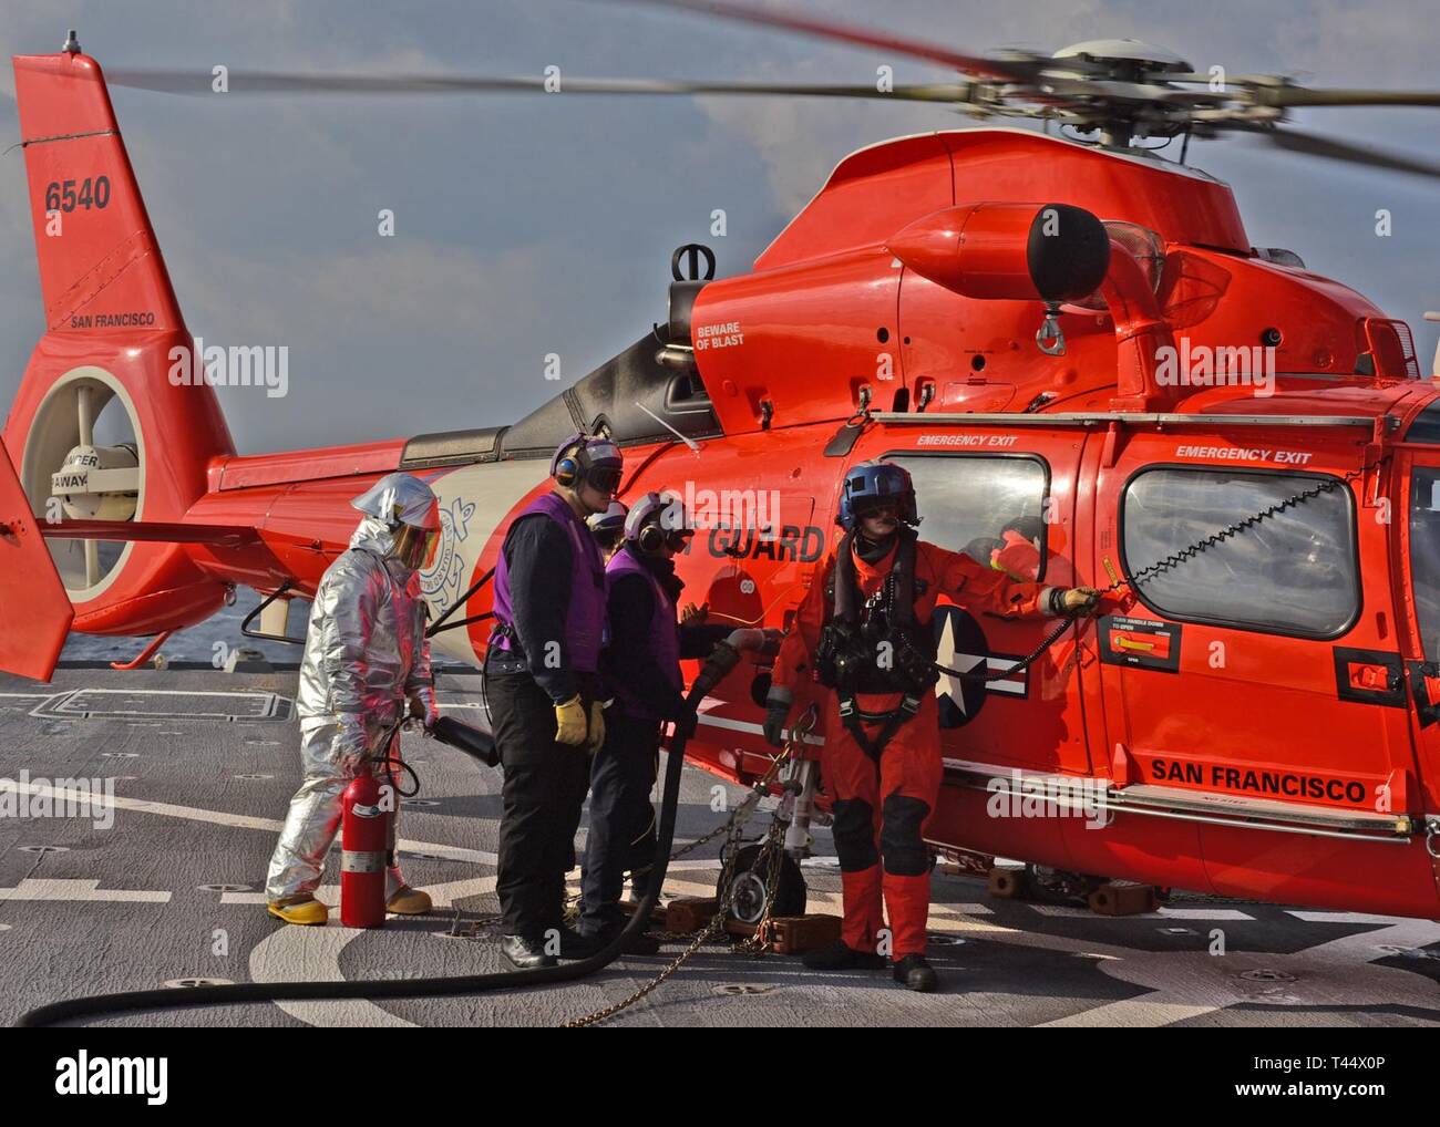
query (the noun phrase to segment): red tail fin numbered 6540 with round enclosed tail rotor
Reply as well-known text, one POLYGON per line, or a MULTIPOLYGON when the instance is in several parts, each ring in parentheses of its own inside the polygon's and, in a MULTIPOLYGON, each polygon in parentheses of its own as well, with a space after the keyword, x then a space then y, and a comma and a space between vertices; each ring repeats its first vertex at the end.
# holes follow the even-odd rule
MULTIPOLYGON (((104 75, 66 47, 14 58, 45 332, 3 442, 17 497, 48 524, 181 521, 206 492, 210 459, 235 445, 196 363, 104 75)), ((81 630, 184 626, 225 594, 183 544, 48 541, 81 630)), ((10 629, 20 626, 0 623, 10 629)))

